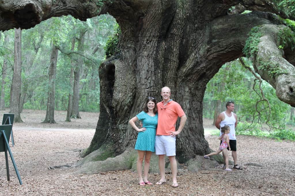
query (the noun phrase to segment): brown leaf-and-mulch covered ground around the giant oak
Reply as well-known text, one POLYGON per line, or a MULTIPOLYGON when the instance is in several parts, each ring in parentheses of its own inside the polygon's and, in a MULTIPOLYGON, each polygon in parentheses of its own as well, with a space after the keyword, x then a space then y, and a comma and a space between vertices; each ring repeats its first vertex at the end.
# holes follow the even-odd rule
MULTIPOLYGON (((8 113, 8 111, 6 111, 8 113)), ((79 150, 89 146, 95 132, 97 113, 81 112, 82 119, 64 122, 65 111, 56 111, 58 124, 40 124, 45 111, 25 110, 25 123, 15 123, 15 146, 11 147, 23 185, 9 161, 10 181, 6 180, 4 152, 0 152, 0 195, 294 195, 295 142, 238 136, 238 161, 243 170, 191 173, 178 171, 178 188, 171 187, 171 174, 163 185, 139 186, 137 173, 106 172, 73 175, 68 168, 78 160, 79 150), (253 165, 252 163, 255 163, 253 165), (53 166, 61 168, 50 169, 53 166)), ((206 135, 212 149, 216 136, 206 135)), ((10 157, 9 157, 10 158, 10 157)), ((230 156, 230 160, 232 157, 230 156)), ((150 174, 155 184, 158 174, 150 174)))

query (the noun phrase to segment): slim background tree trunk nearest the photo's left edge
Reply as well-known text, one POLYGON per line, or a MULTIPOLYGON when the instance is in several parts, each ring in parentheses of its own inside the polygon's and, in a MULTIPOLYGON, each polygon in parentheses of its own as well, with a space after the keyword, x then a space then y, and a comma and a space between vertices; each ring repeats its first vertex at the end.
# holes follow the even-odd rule
MULTIPOLYGON (((7 31, 4 32, 4 44, 3 47, 6 48, 8 46, 9 37, 7 31)), ((7 69, 7 57, 8 55, 4 55, 3 66, 2 66, 2 82, 1 82, 1 97, 0 97, 0 110, 5 109, 5 79, 6 79, 6 69, 7 69)))

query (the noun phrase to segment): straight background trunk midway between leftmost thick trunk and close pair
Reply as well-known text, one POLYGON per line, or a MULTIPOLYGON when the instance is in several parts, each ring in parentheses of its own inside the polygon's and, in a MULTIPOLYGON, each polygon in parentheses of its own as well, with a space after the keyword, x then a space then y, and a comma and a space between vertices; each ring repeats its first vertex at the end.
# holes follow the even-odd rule
POLYGON ((48 98, 47 98, 47 109, 46 117, 43 123, 56 123, 54 120, 54 107, 55 107, 55 76, 56 76, 56 64, 58 57, 58 47, 52 44, 50 54, 50 65, 49 65, 49 81, 48 81, 48 98))

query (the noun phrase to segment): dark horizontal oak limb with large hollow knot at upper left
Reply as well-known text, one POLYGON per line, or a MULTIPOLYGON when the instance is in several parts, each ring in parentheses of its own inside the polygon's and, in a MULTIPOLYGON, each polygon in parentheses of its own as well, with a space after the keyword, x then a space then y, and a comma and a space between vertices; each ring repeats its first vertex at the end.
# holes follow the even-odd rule
POLYGON ((29 29, 51 17, 71 14, 86 21, 87 18, 105 14, 110 1, 96 5, 96 1, 83 0, 3 0, 0 3, 0 30, 29 29))

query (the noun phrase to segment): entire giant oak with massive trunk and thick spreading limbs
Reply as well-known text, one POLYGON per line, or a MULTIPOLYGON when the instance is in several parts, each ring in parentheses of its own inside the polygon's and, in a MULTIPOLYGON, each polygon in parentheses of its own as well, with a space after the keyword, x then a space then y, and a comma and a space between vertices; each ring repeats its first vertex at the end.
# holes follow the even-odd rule
POLYGON ((51 9, 47 9, 45 3, 30 2, 30 6, 18 9, 20 15, 34 10, 26 16, 32 20, 3 14, 7 18, 0 19, 4 24, 0 29, 29 28, 52 16, 72 14, 85 20, 106 12, 114 16, 121 27, 120 53, 99 68, 100 116, 91 145, 84 152, 87 157, 80 162, 81 172, 133 168, 136 158, 132 149, 137 133, 128 125, 128 120, 140 112, 147 96, 155 96, 160 101, 163 86, 171 88, 172 99, 182 106, 188 117, 183 132, 177 137, 178 161, 190 160, 189 170, 196 171, 194 167, 198 164, 192 158, 202 165, 206 160, 199 159, 198 155, 210 151, 202 126, 206 84, 222 64, 244 56, 245 41, 255 26, 259 26, 261 37, 255 46, 257 50, 251 54, 254 68, 273 85, 282 101, 295 106, 294 53, 290 43, 281 51, 276 41, 279 29, 288 27, 269 12, 286 15, 268 1, 115 0, 104 1, 97 7, 99 5, 92 1, 57 0, 52 6, 47 4, 51 9), (228 15, 228 9, 237 4, 256 11, 228 15), (270 61, 273 64, 267 63, 270 61), (272 74, 274 68, 278 70, 276 63, 287 71, 272 74), (261 69, 265 64, 268 66, 261 69))

